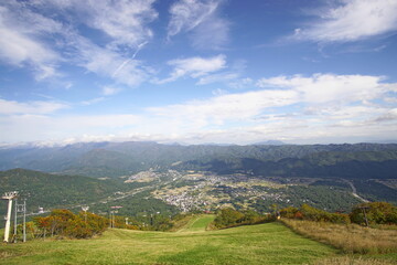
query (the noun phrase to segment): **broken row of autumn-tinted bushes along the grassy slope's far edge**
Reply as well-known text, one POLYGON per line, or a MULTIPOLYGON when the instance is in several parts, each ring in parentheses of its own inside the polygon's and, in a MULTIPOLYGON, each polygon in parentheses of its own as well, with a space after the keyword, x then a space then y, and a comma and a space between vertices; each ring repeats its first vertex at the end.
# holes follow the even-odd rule
MULTIPOLYGON (((170 231, 178 221, 178 214, 173 218, 164 215, 151 215, 148 220, 125 216, 115 216, 112 221, 107 218, 89 213, 79 212, 77 214, 69 210, 53 210, 47 216, 37 216, 32 222, 28 222, 26 230, 29 237, 56 237, 56 239, 90 239, 101 234, 110 226, 128 230, 155 230, 170 231)), ((308 220, 315 222, 331 222, 339 224, 356 223, 361 225, 397 224, 397 206, 387 202, 368 202, 357 204, 348 214, 339 212, 326 212, 308 204, 300 208, 288 206, 278 209, 271 205, 270 212, 259 214, 253 210, 237 211, 225 208, 216 212, 213 222, 215 229, 227 229, 239 225, 260 224, 273 222, 279 218, 308 220)), ((19 227, 21 230, 21 227, 19 227)))

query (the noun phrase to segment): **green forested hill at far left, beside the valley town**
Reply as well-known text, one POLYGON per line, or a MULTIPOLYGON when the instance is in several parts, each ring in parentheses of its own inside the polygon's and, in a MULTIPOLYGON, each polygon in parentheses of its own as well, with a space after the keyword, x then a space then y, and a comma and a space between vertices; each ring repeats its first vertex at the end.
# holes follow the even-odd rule
POLYGON ((36 211, 39 206, 47 209, 96 202, 128 188, 128 184, 114 180, 58 176, 25 169, 0 171, 0 193, 19 191, 22 198, 29 200, 31 211, 36 211))

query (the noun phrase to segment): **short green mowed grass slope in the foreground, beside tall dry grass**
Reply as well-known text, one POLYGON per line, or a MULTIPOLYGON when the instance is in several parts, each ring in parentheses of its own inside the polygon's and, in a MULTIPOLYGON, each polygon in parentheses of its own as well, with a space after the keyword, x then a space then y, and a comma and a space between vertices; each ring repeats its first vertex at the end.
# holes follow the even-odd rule
POLYGON ((3 244, 0 264, 309 264, 334 254, 268 223, 201 233, 109 230, 95 240, 3 244))

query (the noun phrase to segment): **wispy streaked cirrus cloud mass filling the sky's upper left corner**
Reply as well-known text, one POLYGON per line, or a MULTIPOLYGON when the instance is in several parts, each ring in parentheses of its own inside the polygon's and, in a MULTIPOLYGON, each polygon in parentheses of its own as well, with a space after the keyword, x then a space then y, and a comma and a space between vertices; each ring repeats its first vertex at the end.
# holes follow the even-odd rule
POLYGON ((36 80, 60 76, 60 66, 81 66, 116 83, 136 86, 148 68, 135 60, 151 40, 153 1, 50 1, 0 3, 0 60, 33 68, 36 80), (101 32, 92 40, 85 24, 101 32), (101 40, 98 42, 98 40, 101 40))

